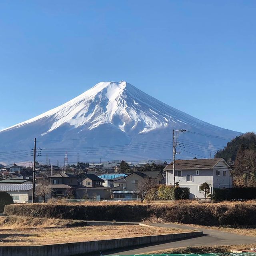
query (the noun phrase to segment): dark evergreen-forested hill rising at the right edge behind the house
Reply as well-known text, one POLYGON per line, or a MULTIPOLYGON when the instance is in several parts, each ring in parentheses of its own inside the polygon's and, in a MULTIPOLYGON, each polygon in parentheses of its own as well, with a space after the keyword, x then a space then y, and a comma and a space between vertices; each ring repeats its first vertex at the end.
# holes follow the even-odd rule
POLYGON ((234 162, 236 159, 236 153, 241 146, 244 146, 245 149, 254 149, 256 150, 256 134, 254 132, 246 132, 230 142, 227 146, 216 152, 215 157, 222 157, 226 162, 234 162))

